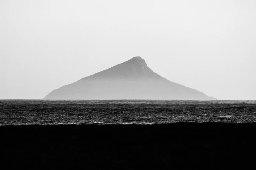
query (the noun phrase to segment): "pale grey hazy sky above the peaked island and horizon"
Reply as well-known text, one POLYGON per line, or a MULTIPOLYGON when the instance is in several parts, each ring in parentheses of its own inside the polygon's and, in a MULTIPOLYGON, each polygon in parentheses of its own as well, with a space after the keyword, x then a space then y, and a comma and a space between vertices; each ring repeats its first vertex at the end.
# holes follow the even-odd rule
POLYGON ((256 99, 255 0, 1 0, 0 99, 42 99, 141 56, 218 99, 256 99))

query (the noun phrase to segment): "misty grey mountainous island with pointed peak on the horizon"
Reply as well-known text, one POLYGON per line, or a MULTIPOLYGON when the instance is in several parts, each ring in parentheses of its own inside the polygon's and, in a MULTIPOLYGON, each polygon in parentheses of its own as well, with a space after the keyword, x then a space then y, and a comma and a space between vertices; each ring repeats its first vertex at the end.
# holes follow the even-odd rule
POLYGON ((113 66, 50 92, 47 100, 216 100, 153 72, 141 57, 113 66))

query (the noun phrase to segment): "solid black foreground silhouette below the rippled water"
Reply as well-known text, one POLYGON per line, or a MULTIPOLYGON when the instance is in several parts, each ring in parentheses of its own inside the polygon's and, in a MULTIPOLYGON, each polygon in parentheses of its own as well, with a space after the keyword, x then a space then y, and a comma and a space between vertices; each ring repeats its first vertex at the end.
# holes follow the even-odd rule
POLYGON ((253 165, 256 123, 1 126, 1 167, 170 169, 253 165))

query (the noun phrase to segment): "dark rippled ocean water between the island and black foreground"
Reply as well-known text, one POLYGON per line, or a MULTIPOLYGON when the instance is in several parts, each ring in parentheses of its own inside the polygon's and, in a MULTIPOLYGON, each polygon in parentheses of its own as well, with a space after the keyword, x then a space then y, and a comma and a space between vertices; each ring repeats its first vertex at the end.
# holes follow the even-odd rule
POLYGON ((256 122, 256 100, 0 100, 0 125, 256 122))

